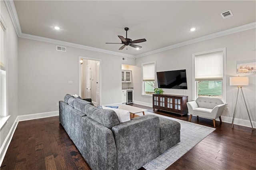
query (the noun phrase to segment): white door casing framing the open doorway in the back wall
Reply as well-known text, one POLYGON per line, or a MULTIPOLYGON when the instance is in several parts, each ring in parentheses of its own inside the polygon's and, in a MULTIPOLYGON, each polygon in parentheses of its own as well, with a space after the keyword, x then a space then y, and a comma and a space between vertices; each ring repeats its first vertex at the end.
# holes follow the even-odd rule
POLYGON ((79 91, 79 96, 82 96, 82 87, 81 87, 81 83, 82 83, 82 79, 81 79, 81 63, 80 63, 80 59, 87 59, 87 60, 93 60, 93 61, 99 61, 100 62, 100 105, 101 105, 101 101, 102 101, 102 61, 101 59, 98 58, 91 58, 91 57, 83 57, 83 56, 78 56, 78 91, 79 91))

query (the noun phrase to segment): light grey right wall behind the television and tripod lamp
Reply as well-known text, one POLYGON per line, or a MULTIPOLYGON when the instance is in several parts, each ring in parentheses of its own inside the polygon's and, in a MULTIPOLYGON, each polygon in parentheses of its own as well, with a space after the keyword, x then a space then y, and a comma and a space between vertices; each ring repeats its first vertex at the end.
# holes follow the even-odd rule
MULTIPOLYGON (((136 59, 136 66, 133 70, 134 80, 134 100, 152 105, 152 97, 146 97, 142 94, 142 78, 141 78, 141 63, 156 61, 156 71, 168 71, 176 69, 186 69, 188 89, 164 89, 166 94, 188 95, 188 100, 192 100, 192 53, 208 51, 226 47, 226 62, 227 62, 227 107, 229 111, 223 116, 233 117, 234 105, 236 102, 237 88, 229 85, 229 78, 233 76, 248 76, 249 86, 244 86, 244 95, 246 103, 251 115, 252 121, 256 121, 256 74, 236 74, 236 61, 256 59, 256 29, 230 34, 220 38, 214 38, 204 42, 194 43, 183 47, 178 47, 168 51, 139 57, 136 59)), ((206 63, 210 64, 210 63, 206 63)), ((237 106, 237 119, 249 120, 242 95, 239 96, 237 106)), ((232 120, 231 120, 232 121, 232 120)))

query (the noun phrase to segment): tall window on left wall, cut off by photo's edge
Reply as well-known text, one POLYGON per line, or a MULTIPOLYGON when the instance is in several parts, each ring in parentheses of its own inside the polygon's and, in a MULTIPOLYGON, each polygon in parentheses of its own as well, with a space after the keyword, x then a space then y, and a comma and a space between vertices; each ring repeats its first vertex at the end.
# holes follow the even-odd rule
POLYGON ((0 117, 6 117, 6 27, 0 20, 0 117))

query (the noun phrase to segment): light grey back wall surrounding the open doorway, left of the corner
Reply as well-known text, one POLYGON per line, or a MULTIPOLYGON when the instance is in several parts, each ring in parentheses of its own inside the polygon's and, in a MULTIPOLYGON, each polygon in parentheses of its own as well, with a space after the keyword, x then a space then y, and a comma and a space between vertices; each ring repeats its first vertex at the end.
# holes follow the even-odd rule
POLYGON ((66 93, 78 94, 78 56, 102 60, 102 105, 121 103, 122 63, 134 65, 133 58, 122 57, 74 47, 56 51, 56 44, 18 39, 19 115, 57 111, 56 103, 66 93), (68 84, 73 81, 73 84, 68 84))

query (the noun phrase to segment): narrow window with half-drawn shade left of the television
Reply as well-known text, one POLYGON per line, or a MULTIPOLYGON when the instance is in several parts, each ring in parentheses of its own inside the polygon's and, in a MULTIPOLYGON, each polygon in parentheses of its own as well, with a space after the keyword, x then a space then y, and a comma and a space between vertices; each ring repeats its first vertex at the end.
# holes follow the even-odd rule
POLYGON ((142 63, 142 95, 152 95, 155 87, 156 62, 142 63))

